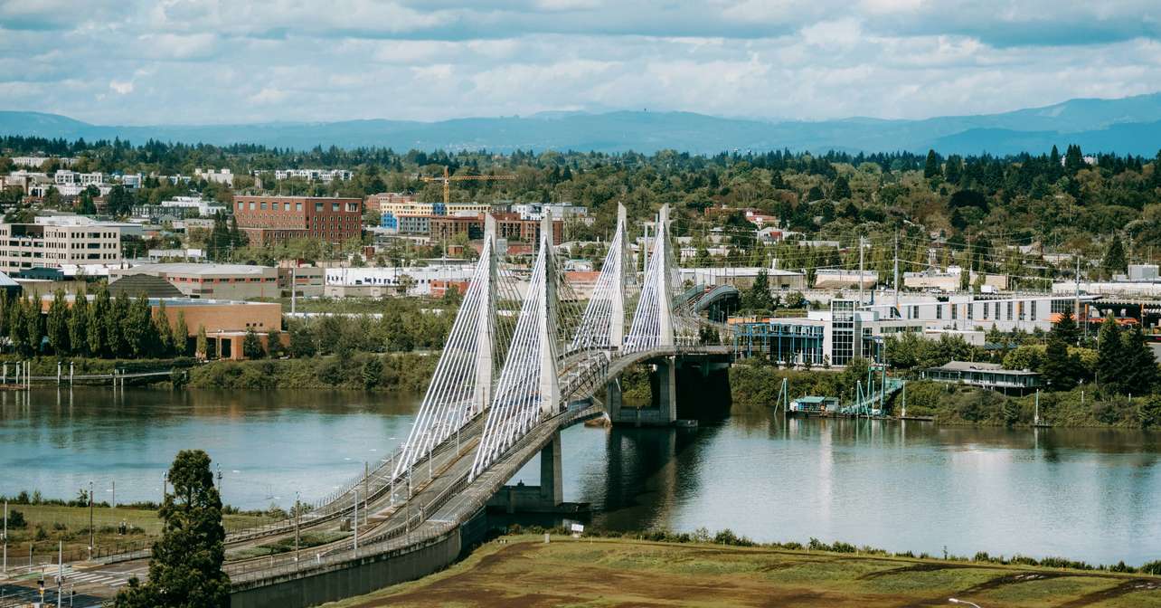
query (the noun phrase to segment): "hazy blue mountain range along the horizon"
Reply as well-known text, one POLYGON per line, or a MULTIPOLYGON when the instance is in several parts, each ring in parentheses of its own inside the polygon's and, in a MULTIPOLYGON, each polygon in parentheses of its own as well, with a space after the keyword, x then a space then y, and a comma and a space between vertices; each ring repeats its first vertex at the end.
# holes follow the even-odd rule
POLYGON ((579 150, 694 153, 723 150, 845 150, 994 155, 1045 152, 1080 144, 1086 152, 1154 156, 1161 149, 1161 93, 1124 99, 1074 99, 1043 108, 926 120, 842 119, 762 121, 686 112, 551 112, 527 117, 440 122, 359 120, 257 124, 115 127, 57 114, 0 112, 0 134, 74 140, 121 137, 185 143, 257 143, 310 149, 389 146, 395 150, 579 150))

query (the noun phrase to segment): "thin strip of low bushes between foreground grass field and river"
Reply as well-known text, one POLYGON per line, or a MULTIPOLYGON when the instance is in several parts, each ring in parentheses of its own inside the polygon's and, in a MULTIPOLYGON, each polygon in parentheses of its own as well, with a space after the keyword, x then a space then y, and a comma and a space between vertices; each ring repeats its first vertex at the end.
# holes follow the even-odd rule
MULTIPOLYGON (((553 534, 567 536, 572 534, 571 530, 565 528, 541 528, 539 525, 521 527, 519 524, 512 524, 507 529, 509 535, 520 535, 520 534, 553 534)), ((849 555, 860 555, 860 556, 884 556, 884 557, 907 557, 915 559, 943 559, 945 561, 972 561, 979 564, 1000 564, 1000 565, 1018 565, 1018 566, 1039 566, 1039 567, 1052 567, 1052 568, 1066 568, 1066 570, 1077 570, 1077 571, 1104 571, 1104 572, 1125 572, 1135 574, 1152 574, 1161 575, 1161 559, 1147 561, 1139 566, 1132 566, 1125 564, 1120 560, 1116 564, 1089 564, 1087 561, 1067 559, 1062 557, 1044 557, 1034 558, 1023 555, 1014 555, 1009 557, 1004 556, 993 556, 986 551, 979 551, 973 556, 956 556, 951 553, 945 553, 944 556, 931 556, 929 553, 915 553, 914 551, 903 552, 892 552, 884 549, 878 549, 873 546, 858 546, 850 543, 844 543, 842 541, 835 541, 834 543, 824 543, 817 538, 812 537, 806 543, 800 543, 795 541, 788 542, 774 542, 774 543, 759 543, 751 541, 750 538, 735 534, 730 529, 719 530, 712 532, 706 528, 698 528, 692 532, 675 532, 670 530, 637 530, 637 531, 616 531, 616 530, 601 530, 596 528, 585 529, 585 536, 594 536, 598 538, 623 538, 628 541, 647 541, 657 543, 700 543, 700 544, 715 544, 723 546, 753 546, 753 548, 765 548, 765 549, 784 549, 787 551, 812 551, 812 552, 824 552, 824 553, 849 553, 849 555)))

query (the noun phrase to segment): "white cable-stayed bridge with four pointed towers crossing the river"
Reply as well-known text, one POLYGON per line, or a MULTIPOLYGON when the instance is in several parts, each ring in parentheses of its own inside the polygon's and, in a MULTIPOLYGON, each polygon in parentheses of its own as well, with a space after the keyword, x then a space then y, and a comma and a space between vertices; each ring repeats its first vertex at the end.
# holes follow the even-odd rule
MULTIPOLYGON (((619 207, 584 300, 564 280, 550 217, 531 267, 504 263, 486 217, 479 259, 408 439, 309 512, 231 534, 224 568, 232 606, 313 606, 446 567, 483 537, 490 501, 562 502, 562 429, 603 414, 613 422, 672 424, 678 365, 704 373, 723 366, 730 337, 728 327, 699 313, 714 289, 680 285, 669 223, 663 207, 643 259, 634 260, 619 207), (639 363, 656 375, 655 405, 622 408, 619 377, 639 363), (541 485, 521 488, 531 491, 522 495, 505 492, 538 453, 541 485), (297 542, 305 531, 341 538, 305 548, 297 542), (291 539, 293 551, 250 557, 255 548, 291 539)), ((139 564, 144 555, 121 563, 130 568, 128 558, 139 564)), ((108 561, 116 558, 104 567, 108 561)))

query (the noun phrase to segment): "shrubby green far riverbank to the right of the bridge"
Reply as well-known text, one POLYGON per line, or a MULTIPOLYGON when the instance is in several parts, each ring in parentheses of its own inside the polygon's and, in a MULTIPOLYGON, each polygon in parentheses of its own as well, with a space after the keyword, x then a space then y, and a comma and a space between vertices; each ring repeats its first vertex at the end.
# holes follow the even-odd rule
MULTIPOLYGON (((846 401, 861 373, 829 370, 783 370, 769 365, 735 364, 730 367, 734 408, 753 412, 773 407, 783 379, 789 396, 842 395, 846 401)), ((1148 428, 1161 427, 1158 396, 1102 398, 1093 387, 1040 393, 1040 423, 1057 428, 1148 428)), ((902 407, 902 394, 888 401, 892 413, 902 407)), ((1036 420, 1036 395, 1005 396, 972 386, 911 380, 907 382, 907 414, 930 416, 938 424, 976 427, 1031 427, 1036 420)))

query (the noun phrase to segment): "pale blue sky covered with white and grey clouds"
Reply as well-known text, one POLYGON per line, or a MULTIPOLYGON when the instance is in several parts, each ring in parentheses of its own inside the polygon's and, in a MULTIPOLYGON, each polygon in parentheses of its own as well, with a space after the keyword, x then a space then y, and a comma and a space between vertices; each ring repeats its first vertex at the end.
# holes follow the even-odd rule
POLYGON ((0 0, 0 109, 926 117, 1161 91, 1158 0, 0 0))

